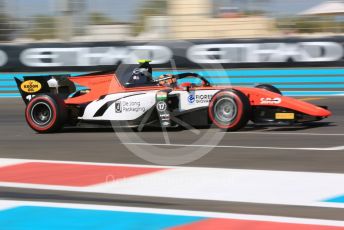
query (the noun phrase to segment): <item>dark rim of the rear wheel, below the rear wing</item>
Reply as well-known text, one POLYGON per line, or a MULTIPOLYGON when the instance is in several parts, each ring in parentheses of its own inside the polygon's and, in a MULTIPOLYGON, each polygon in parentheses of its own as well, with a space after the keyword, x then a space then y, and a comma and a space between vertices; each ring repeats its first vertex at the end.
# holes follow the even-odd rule
POLYGON ((31 109, 31 119, 32 121, 39 125, 47 125, 52 118, 52 112, 49 104, 45 102, 38 102, 31 109))

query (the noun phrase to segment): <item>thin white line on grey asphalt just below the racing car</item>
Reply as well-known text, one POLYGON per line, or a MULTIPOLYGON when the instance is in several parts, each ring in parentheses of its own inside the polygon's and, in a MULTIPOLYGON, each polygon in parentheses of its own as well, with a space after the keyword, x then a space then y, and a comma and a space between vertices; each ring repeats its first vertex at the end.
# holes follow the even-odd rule
POLYGON ((270 149, 270 150, 302 150, 302 151, 341 151, 344 146, 332 147, 274 147, 274 146, 243 146, 243 145, 194 145, 194 144, 165 144, 165 143, 123 143, 124 145, 141 145, 141 146, 175 146, 175 147, 198 147, 198 148, 235 148, 235 149, 270 149))

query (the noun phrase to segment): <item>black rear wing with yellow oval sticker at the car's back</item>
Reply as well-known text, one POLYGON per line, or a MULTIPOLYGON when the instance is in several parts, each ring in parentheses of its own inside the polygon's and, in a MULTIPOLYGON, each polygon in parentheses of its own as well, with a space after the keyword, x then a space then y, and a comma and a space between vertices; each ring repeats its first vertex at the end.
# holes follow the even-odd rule
POLYGON ((28 76, 23 80, 14 78, 25 104, 37 94, 56 94, 67 98, 75 92, 75 85, 69 80, 70 75, 28 76))

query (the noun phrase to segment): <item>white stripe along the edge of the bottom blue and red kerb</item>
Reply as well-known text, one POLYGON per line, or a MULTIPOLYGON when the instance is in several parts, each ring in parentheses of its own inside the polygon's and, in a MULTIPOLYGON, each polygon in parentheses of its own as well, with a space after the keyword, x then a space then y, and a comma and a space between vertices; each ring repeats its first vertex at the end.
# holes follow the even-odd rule
MULTIPOLYGON (((250 214, 158 209, 158 208, 141 208, 141 207, 124 207, 124 206, 108 206, 108 205, 91 205, 91 204, 13 201, 13 200, 0 200, 0 203, 3 203, 4 206, 7 206, 7 207, 25 205, 25 206, 39 206, 39 207, 58 207, 58 208, 74 208, 74 209, 87 209, 87 210, 135 212, 135 213, 142 212, 142 213, 151 213, 151 214, 183 215, 183 216, 196 216, 196 217, 206 217, 206 218, 269 221, 269 222, 279 222, 279 223, 311 224, 311 225, 338 226, 338 227, 344 226, 344 221, 297 218, 297 217, 250 215, 250 214)), ((0 210, 0 214, 1 214, 1 210, 0 210)))

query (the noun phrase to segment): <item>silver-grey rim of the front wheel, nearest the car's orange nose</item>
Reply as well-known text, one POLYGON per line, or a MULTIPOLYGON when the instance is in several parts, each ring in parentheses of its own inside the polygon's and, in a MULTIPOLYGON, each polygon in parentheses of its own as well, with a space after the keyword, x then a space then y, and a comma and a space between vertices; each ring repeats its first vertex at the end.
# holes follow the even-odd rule
POLYGON ((221 98, 215 103, 214 112, 218 121, 230 124, 236 118, 238 109, 232 98, 221 98))

